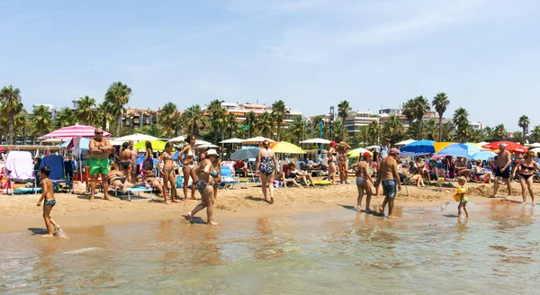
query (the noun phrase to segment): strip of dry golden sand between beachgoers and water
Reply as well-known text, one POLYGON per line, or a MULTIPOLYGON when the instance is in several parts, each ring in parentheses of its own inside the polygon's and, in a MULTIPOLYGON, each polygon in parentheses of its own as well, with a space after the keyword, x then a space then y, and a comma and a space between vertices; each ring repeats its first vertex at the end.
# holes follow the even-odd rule
MULTIPOLYGON (((457 185, 457 183, 451 183, 457 185)), ((447 185, 447 183, 446 183, 447 185)), ((468 183, 467 196, 470 201, 489 201, 492 184, 468 183)), ((161 196, 154 194, 154 201, 127 201, 112 197, 102 199, 103 193, 89 201, 89 195, 56 193, 57 206, 52 211, 62 228, 90 227, 97 225, 145 222, 164 219, 183 219, 184 214, 193 209, 199 200, 184 201, 184 193, 178 189, 180 202, 172 205, 163 203, 161 196)), ((382 190, 381 190, 382 193, 382 190)), ((425 188, 403 186, 396 198, 396 206, 438 206, 454 201, 453 187, 432 185, 425 188)), ((540 185, 535 183, 535 194, 540 194, 540 185)), ((142 194, 148 196, 147 194, 142 194)), ((507 196, 506 185, 501 186, 499 196, 507 196)), ((188 193, 189 196, 189 193, 188 193)), ((305 211, 336 210, 356 206, 356 185, 354 183, 317 186, 315 188, 276 188, 275 203, 263 200, 260 184, 242 184, 233 189, 218 192, 214 215, 219 222, 228 219, 251 219, 256 217, 286 216, 305 211)), ((36 203, 40 195, 0 195, 0 232, 19 232, 27 228, 43 227, 42 209, 36 203)), ((512 183, 512 199, 521 201, 519 183, 512 183)), ((530 201, 530 199, 527 199, 530 201)), ((372 198, 372 207, 383 202, 383 196, 372 198)), ((365 200, 362 202, 365 207, 365 200)), ((197 216, 206 219, 203 210, 197 216)))

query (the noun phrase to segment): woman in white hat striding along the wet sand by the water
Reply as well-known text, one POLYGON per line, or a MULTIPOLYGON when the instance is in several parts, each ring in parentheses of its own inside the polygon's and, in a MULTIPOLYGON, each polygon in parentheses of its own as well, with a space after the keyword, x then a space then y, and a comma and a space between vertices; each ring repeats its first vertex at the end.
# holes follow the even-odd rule
POLYGON ((217 226, 218 223, 213 219, 213 206, 215 202, 215 196, 213 194, 214 179, 211 177, 212 165, 218 162, 220 154, 215 149, 210 149, 206 152, 206 158, 202 160, 201 164, 193 169, 193 181, 196 179, 197 191, 201 193, 202 202, 198 204, 191 212, 188 212, 187 219, 190 223, 193 223, 193 216, 198 211, 206 208, 207 224, 211 226, 217 226))

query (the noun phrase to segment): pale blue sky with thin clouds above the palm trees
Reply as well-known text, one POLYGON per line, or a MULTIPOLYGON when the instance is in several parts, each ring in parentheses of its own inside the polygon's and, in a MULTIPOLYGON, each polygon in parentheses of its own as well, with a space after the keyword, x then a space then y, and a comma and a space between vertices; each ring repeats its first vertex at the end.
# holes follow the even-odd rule
POLYGON ((0 0, 0 86, 27 109, 121 81, 131 108, 283 100, 306 117, 444 92, 445 117, 511 131, 540 125, 538 28, 536 0, 0 0))

